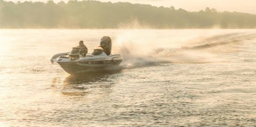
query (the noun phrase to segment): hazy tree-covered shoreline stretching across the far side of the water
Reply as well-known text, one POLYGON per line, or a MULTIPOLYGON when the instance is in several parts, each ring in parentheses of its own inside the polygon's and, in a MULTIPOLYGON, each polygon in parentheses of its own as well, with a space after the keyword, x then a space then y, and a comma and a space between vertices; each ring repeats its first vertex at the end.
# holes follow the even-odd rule
POLYGON ((0 28, 122 28, 136 23, 141 28, 256 28, 256 15, 206 9, 188 12, 171 7, 99 1, 6 2, 0 0, 0 28))

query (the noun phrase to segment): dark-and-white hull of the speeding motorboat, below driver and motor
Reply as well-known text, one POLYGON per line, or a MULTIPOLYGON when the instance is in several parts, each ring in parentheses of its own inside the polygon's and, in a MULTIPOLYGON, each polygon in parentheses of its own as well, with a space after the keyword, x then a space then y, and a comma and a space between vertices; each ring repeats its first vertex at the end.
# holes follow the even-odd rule
POLYGON ((80 57, 77 60, 66 56, 54 55, 54 57, 58 58, 52 58, 52 63, 58 63, 69 74, 118 70, 123 60, 121 55, 93 56, 87 54, 86 57, 80 57))

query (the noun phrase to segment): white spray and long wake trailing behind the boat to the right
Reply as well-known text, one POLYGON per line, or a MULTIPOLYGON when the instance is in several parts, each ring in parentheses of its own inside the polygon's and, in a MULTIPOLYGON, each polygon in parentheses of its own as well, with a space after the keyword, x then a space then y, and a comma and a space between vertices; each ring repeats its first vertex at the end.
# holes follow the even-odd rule
POLYGON ((162 63, 226 62, 228 60, 220 53, 237 52, 244 40, 254 37, 244 33, 228 33, 177 41, 170 36, 166 43, 158 41, 161 37, 156 37, 157 34, 149 31, 150 29, 125 29, 117 35, 113 49, 124 58, 121 66, 130 68, 162 63))

